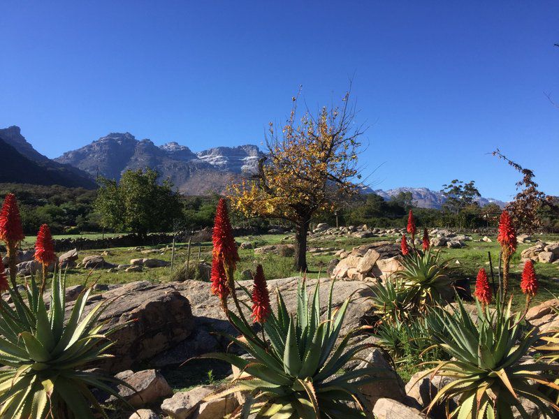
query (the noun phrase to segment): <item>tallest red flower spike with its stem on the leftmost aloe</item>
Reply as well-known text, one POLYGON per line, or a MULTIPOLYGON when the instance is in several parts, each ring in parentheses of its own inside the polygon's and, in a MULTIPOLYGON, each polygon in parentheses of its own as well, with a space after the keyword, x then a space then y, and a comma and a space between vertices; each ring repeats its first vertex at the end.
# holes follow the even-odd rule
POLYGON ((20 209, 13 193, 8 193, 0 210, 0 240, 6 244, 10 281, 14 290, 17 288, 17 248, 25 238, 22 229, 20 209))

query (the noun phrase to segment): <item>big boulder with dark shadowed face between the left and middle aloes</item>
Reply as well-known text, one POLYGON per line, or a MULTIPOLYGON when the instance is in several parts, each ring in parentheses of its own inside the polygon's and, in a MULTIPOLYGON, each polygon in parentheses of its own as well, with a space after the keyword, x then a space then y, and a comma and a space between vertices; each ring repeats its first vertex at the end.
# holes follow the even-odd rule
MULTIPOLYGON (((99 318, 106 321, 101 332, 122 326, 110 335, 115 341, 110 353, 115 358, 101 365, 113 372, 153 358, 189 337, 194 330, 189 301, 173 284, 137 281, 120 286, 92 297, 85 314, 101 300, 112 301, 99 318)), ((72 307, 72 303, 66 307, 67 316, 72 307)))

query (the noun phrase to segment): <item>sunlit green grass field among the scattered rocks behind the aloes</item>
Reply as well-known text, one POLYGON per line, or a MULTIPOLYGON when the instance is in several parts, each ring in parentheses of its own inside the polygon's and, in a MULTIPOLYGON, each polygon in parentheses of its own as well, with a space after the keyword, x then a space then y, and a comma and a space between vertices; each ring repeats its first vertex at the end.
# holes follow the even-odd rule
MULTIPOLYGON (((288 240, 282 240, 285 235, 259 235, 259 236, 244 236, 236 237, 238 242, 252 242, 256 247, 260 247, 266 244, 277 244, 279 242, 289 243, 288 240)), ((470 284, 474 284, 477 271, 480 267, 485 267, 489 272, 488 265, 488 253, 491 253, 491 258, 493 262, 493 269, 495 272, 495 280, 498 269, 498 258, 499 258, 499 244, 495 241, 491 243, 479 242, 478 235, 473 235, 473 241, 466 242, 467 246, 463 249, 447 249, 442 248, 441 258, 442 260, 447 260, 449 263, 451 277, 456 279, 470 279, 470 284)), ((540 240, 546 242, 558 242, 559 235, 546 235, 537 237, 540 240)), ((493 237, 492 237, 493 239, 493 237)), ((372 239, 356 239, 343 237, 336 240, 311 240, 309 242, 309 247, 331 247, 335 249, 346 249, 350 250, 361 244, 369 243, 372 241, 379 240, 391 240, 396 241, 396 237, 386 238, 386 237, 375 237, 372 239)), ((518 246, 518 250, 512 258, 511 265, 511 286, 514 293, 514 304, 523 304, 523 295, 519 292, 518 284, 520 281, 520 275, 522 272, 522 265, 520 260, 521 251, 532 244, 521 244, 518 246)), ((168 246, 159 247, 144 247, 144 249, 161 249, 168 246)), ((198 254, 200 255, 200 260, 204 260, 207 263, 211 262, 211 243, 204 242, 201 244, 193 244, 191 246, 191 265, 195 265, 198 261, 198 254)), ((133 258, 159 258, 163 260, 170 261, 171 251, 166 250, 161 253, 150 253, 143 254, 139 251, 134 251, 129 248, 119 247, 111 249, 92 249, 80 251, 80 260, 85 256, 93 254, 103 255, 106 261, 115 264, 128 264, 133 258)), ((183 265, 187 260, 187 244, 177 243, 175 248, 175 258, 173 263, 173 271, 177 270, 181 265, 183 265)), ((293 260, 291 257, 282 257, 274 254, 266 255, 255 255, 253 249, 241 249, 240 253, 240 263, 238 264, 238 270, 235 273, 237 279, 241 278, 241 272, 246 269, 254 269, 257 263, 261 263, 264 267, 264 272, 266 272, 266 277, 268 279, 292 277, 300 274, 300 272, 293 270, 293 260)), ((310 277, 325 277, 325 270, 328 261, 331 260, 333 256, 330 255, 320 255, 314 253, 307 253, 307 261, 309 264, 309 271, 307 275, 310 277)), ((553 295, 559 295, 559 265, 556 264, 545 264, 536 263, 535 269, 537 272, 537 277, 540 284, 540 292, 535 297, 535 302, 549 300, 553 295)), ((95 270, 90 272, 89 270, 84 270, 76 268, 73 270, 68 270, 67 272, 67 284, 84 284, 85 281, 96 281, 99 284, 126 284, 131 281, 154 281, 154 282, 165 282, 170 281, 173 271, 170 267, 160 267, 154 269, 145 269, 143 272, 106 272, 106 270, 95 270)))

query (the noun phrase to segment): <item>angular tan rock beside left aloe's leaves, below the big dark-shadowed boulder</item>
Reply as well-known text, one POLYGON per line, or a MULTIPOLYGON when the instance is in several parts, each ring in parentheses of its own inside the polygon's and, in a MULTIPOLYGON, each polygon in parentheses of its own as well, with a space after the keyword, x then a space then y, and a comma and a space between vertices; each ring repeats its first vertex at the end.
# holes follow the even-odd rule
POLYGON ((139 372, 124 371, 117 374, 116 377, 136 390, 133 391, 124 385, 118 386, 119 395, 134 407, 152 404, 164 397, 173 395, 173 389, 170 388, 164 376, 154 369, 145 369, 139 372))

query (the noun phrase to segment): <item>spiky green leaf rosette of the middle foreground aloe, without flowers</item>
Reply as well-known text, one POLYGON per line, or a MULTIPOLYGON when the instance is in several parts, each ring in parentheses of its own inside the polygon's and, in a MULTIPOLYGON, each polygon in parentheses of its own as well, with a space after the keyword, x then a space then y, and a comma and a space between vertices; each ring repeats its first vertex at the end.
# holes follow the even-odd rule
POLYGON ((350 332, 336 345, 349 298, 335 312, 332 291, 333 286, 324 319, 320 314, 319 284, 312 301, 308 301, 305 281, 299 284, 296 316, 289 313, 278 291, 277 313, 271 312, 263 323, 263 339, 257 339, 238 316, 230 313, 242 338, 226 336, 244 349, 248 358, 230 353, 211 353, 203 358, 230 362, 249 375, 215 395, 249 393, 247 402, 233 413, 233 418, 247 418, 251 413, 256 413, 256 418, 365 417, 359 388, 379 379, 372 376, 377 369, 366 366, 349 370, 347 365, 375 345, 351 344, 351 337, 359 330, 350 332))

